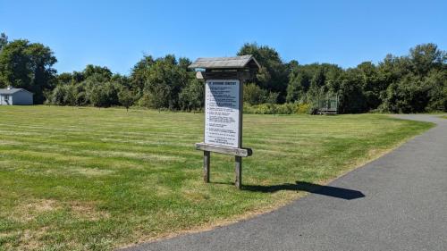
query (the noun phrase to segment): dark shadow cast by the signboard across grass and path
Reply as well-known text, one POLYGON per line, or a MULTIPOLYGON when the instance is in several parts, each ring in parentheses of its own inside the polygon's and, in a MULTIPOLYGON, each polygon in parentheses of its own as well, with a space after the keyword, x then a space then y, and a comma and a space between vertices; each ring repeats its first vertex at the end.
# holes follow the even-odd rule
POLYGON ((262 193, 274 193, 281 190, 289 190, 289 191, 305 191, 312 194, 323 195, 327 197, 337 197, 342 199, 357 199, 361 197, 365 197, 365 195, 358 191, 352 190, 348 188, 336 188, 331 186, 323 186, 318 184, 313 184, 305 181, 296 181, 296 184, 285 183, 282 185, 273 185, 273 186, 252 186, 245 185, 243 186, 244 190, 253 191, 253 192, 262 192, 262 193))

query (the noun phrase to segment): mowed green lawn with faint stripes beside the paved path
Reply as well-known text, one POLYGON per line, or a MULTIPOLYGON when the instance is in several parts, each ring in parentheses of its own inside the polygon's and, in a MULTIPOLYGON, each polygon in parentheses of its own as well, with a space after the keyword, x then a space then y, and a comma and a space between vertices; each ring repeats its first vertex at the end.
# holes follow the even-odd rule
POLYGON ((432 124, 386 115, 245 115, 233 157, 202 178, 202 113, 0 106, 0 250, 109 250, 207 229, 301 197, 432 124))

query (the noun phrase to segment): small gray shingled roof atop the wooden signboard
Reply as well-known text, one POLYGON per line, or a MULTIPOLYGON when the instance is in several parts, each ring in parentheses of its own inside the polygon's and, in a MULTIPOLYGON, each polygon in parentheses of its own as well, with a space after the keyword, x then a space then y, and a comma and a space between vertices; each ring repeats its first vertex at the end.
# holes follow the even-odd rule
POLYGON ((232 57, 199 57, 190 68, 204 69, 240 69, 249 66, 249 63, 260 68, 256 59, 250 55, 232 56, 232 57))

